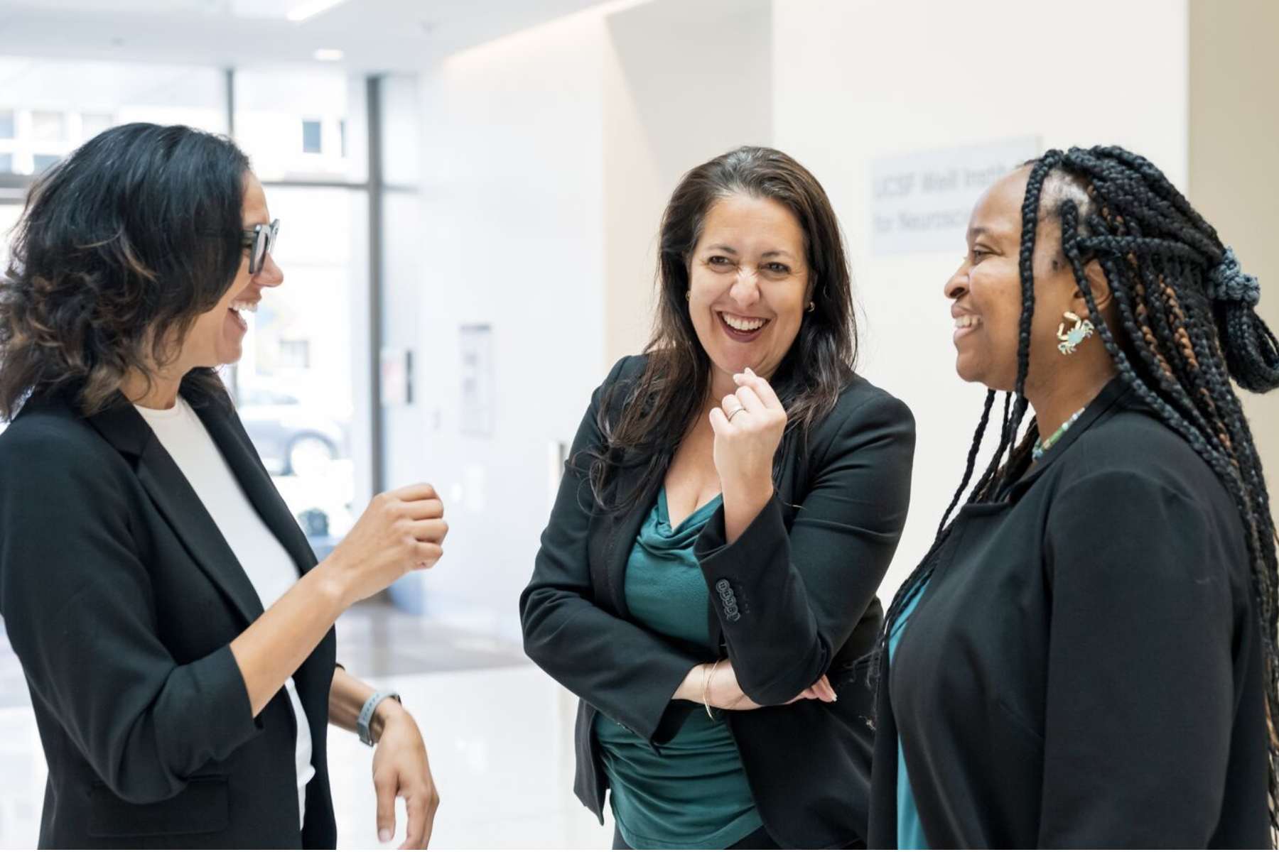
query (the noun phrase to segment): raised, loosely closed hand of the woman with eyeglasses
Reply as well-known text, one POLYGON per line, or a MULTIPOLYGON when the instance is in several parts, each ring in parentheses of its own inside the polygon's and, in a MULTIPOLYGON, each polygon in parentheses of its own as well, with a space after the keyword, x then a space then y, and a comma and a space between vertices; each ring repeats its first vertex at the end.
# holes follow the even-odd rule
POLYGON ((324 566, 349 607, 409 571, 434 566, 444 554, 448 534, 444 503, 435 488, 405 485, 373 497, 324 566))

